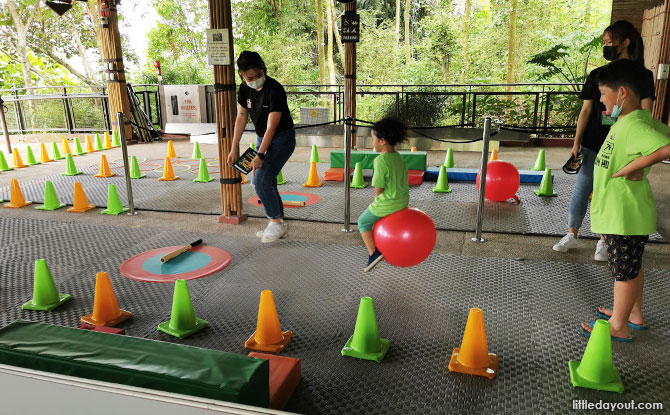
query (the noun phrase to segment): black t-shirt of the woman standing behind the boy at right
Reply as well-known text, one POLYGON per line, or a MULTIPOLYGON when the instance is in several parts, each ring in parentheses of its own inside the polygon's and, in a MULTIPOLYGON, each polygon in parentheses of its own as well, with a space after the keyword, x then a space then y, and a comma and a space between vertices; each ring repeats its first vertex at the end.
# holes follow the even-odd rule
MULTIPOLYGON (((592 101, 591 115, 589 116, 589 122, 586 124, 581 145, 596 152, 600 151, 600 146, 603 145, 607 134, 610 132, 609 125, 602 125, 602 112, 605 111, 605 104, 600 102, 600 90, 598 89, 598 73, 601 69, 602 67, 591 71, 588 78, 586 78, 582 92, 579 94, 581 99, 590 99, 592 101)), ((644 71, 645 80, 640 99, 651 98, 654 100, 656 99, 656 95, 654 94, 654 73, 646 68, 644 71)))

